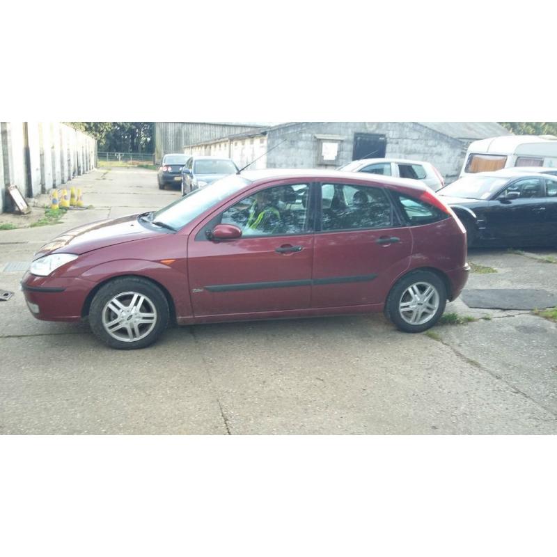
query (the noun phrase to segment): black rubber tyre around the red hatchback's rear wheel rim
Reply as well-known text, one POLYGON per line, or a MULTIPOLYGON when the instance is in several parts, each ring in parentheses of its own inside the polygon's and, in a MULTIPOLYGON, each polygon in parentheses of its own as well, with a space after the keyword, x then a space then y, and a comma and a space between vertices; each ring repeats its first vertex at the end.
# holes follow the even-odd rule
MULTIPOLYGON (((418 286, 418 289, 421 288, 423 287, 418 286)), ((430 327, 433 327, 434 324, 439 321, 439 318, 445 311, 446 304, 447 289, 444 281, 439 277, 439 275, 431 271, 414 271, 400 278, 398 282, 395 283, 393 288, 391 288, 391 292, 389 292, 389 296, 387 297, 385 303, 385 315, 389 320, 391 320, 391 322, 393 322, 397 329, 400 329, 400 331, 405 331, 407 333, 421 333, 422 331, 430 329, 430 327), (403 303, 402 298, 408 296, 407 289, 412 285, 417 284, 427 284, 434 288, 437 292, 438 306, 437 310, 432 311, 431 316, 426 322, 411 324, 405 320, 405 317, 403 317, 400 304, 403 303)), ((419 312, 422 307, 423 304, 419 304, 417 311, 419 312)), ((409 308, 405 314, 410 313, 411 311, 412 310, 409 308)), ((409 315, 406 315, 406 317, 408 318, 409 315)), ((427 315, 424 316, 424 318, 426 317, 427 315)))

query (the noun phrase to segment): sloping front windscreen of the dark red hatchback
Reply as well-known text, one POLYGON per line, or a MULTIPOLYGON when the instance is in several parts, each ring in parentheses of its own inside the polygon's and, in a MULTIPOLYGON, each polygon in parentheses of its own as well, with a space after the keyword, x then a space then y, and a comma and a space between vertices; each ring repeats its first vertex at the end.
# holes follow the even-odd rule
POLYGON ((191 194, 166 205, 166 207, 155 212, 151 220, 162 222, 178 230, 207 209, 214 207, 223 199, 235 194, 236 191, 240 191, 249 184, 251 184, 250 180, 246 180, 246 178, 237 174, 227 176, 213 182, 210 186, 195 189, 191 194))

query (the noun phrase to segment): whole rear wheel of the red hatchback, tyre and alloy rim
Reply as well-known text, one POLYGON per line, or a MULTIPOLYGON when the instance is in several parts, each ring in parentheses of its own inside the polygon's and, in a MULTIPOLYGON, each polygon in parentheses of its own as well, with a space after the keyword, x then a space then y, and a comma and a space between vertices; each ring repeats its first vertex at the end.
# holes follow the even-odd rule
POLYGON ((439 321, 446 303, 447 290, 441 278, 430 271, 416 271, 393 286, 385 313, 401 331, 421 333, 439 321))

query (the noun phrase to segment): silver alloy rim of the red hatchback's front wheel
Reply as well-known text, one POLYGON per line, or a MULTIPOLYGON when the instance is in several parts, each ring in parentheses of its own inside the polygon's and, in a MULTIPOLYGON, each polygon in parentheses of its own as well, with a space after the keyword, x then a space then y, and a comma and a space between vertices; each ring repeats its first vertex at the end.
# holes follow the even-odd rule
POLYGON ((134 343, 145 338, 157 324, 155 304, 139 292, 121 292, 105 304, 102 326, 116 340, 134 343))

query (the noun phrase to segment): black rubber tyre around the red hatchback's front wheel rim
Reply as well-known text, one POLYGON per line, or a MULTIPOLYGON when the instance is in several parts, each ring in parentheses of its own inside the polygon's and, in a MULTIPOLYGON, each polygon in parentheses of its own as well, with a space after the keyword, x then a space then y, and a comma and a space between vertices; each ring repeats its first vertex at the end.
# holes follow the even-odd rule
POLYGON ((89 309, 89 324, 91 325, 93 334, 105 344, 112 348, 117 348, 118 350, 134 350, 151 345, 162 335, 164 329, 168 326, 169 318, 170 311, 168 308, 168 301, 162 290, 145 278, 136 276, 114 278, 109 283, 105 284, 95 294, 91 302, 91 308, 89 309), (120 315, 117 315, 115 311, 108 307, 109 302, 118 296, 124 301, 124 306, 125 300, 129 297, 131 307, 133 294, 138 295, 136 299, 140 304, 137 314, 132 312, 131 317, 130 315, 124 317, 123 315, 125 315, 125 312, 129 313, 129 308, 125 307, 125 309, 120 310, 120 315), (139 295, 143 297, 142 303, 139 295), (152 311, 153 308, 154 311, 152 311), (143 313, 141 313, 141 309, 144 310, 143 313), (104 327, 103 315, 105 319, 108 319, 109 316, 112 315, 112 317, 114 317, 114 322, 118 320, 116 325, 122 322, 123 326, 120 327, 120 329, 113 329, 113 334, 110 334, 104 327), (148 322, 139 322, 134 325, 135 315, 137 315, 138 320, 143 318, 147 319, 148 322), (140 317, 140 315, 146 317, 140 317), (130 319, 132 321, 128 324, 130 319), (139 331, 138 340, 120 340, 120 338, 124 338, 125 336, 134 336, 136 331, 139 331), (120 338, 115 338, 115 336, 120 338))

